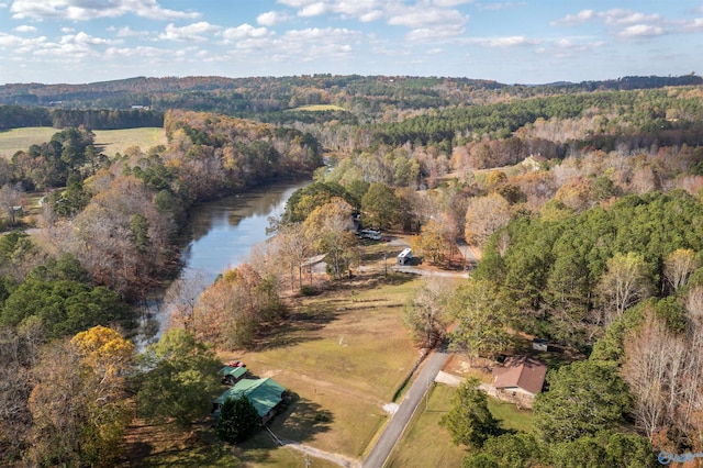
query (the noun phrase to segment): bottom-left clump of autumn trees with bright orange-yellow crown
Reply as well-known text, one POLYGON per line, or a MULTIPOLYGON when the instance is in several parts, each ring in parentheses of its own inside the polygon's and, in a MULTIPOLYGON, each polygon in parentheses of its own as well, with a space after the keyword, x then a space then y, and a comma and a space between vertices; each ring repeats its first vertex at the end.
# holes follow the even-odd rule
POLYGON ((131 420, 124 375, 133 357, 134 345, 102 326, 46 347, 27 402, 32 464, 113 463, 131 420))

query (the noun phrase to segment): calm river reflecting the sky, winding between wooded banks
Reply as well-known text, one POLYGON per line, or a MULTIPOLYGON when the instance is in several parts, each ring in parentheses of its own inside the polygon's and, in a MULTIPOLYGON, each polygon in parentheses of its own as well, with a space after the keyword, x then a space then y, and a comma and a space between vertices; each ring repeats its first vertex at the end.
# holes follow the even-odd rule
POLYGON ((239 265, 255 244, 264 242, 269 218, 282 214, 290 196, 310 182, 271 182, 193 208, 181 234, 183 267, 169 288, 147 300, 140 347, 158 338, 174 302, 194 302, 217 275, 239 265))

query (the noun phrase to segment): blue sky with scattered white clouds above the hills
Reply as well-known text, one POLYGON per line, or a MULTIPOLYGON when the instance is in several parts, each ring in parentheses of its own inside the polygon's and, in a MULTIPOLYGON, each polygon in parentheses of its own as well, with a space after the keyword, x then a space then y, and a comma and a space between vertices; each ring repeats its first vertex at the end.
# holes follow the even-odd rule
POLYGON ((703 1, 0 0, 0 83, 703 74, 703 1))

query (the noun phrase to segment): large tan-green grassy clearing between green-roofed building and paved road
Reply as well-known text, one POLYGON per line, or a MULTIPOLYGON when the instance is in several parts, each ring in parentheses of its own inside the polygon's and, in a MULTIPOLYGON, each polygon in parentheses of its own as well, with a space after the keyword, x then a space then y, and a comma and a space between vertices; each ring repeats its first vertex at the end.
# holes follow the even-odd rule
POLYGON ((419 282, 389 276, 342 283, 300 300, 287 326, 261 350, 227 355, 299 397, 271 430, 325 452, 362 458, 387 421, 382 405, 417 360, 400 312, 419 282))

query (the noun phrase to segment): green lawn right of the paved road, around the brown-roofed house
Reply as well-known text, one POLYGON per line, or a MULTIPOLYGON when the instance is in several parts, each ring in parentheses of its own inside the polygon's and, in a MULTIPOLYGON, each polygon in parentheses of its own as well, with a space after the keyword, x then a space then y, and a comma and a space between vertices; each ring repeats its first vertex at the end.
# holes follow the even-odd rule
MULTIPOLYGON (((462 447, 451 443, 451 436, 439 425, 439 420, 451 409, 451 395, 455 388, 436 383, 428 391, 425 404, 417 408, 417 412, 408 424, 408 428, 391 453, 387 466, 389 468, 425 468, 425 467, 458 467, 466 456, 462 447)), ((533 413, 518 410, 514 404, 488 399, 488 408, 496 419, 501 420, 501 427, 506 431, 532 431, 533 413)))

